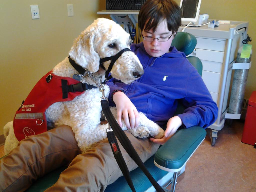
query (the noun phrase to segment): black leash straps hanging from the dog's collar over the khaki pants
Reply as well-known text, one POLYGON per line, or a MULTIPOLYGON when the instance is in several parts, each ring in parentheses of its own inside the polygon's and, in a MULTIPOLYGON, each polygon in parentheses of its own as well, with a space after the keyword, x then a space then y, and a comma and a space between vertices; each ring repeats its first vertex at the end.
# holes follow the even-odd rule
MULTIPOLYGON (((140 157, 138 156, 137 152, 135 151, 134 147, 132 146, 129 138, 125 135, 124 131, 121 129, 121 127, 119 126, 119 124, 116 122, 113 114, 111 113, 110 109, 109 109, 109 103, 108 100, 101 100, 101 106, 102 106, 102 110, 104 115, 106 116, 111 128, 113 129, 113 131, 107 131, 107 135, 111 134, 111 138, 115 137, 114 134, 116 135, 116 137, 118 138, 119 142, 121 143, 121 145, 124 147, 125 151, 130 155, 130 157, 133 159, 133 161, 141 168, 141 170, 143 171, 143 173, 147 176, 147 178, 150 180, 150 182, 152 183, 152 185, 155 187, 157 192, 164 192, 164 189, 156 182, 156 180, 153 178, 153 176, 148 172, 147 168, 145 167, 145 165, 143 164, 143 162, 141 161, 140 157), (112 132, 112 133, 111 133, 112 132), (114 132, 114 133, 113 133, 114 132)), ((108 137, 109 138, 109 137, 108 137)), ((112 151, 114 153, 116 153, 116 150, 119 150, 119 147, 117 149, 113 148, 112 146, 112 141, 109 141, 112 151)), ((115 142, 115 145, 117 145, 117 142, 115 142)), ((121 152, 120 152, 121 154, 121 152)), ((118 158, 116 158, 116 161, 119 163, 121 162, 123 164, 124 160, 121 161, 118 158)), ((125 164, 125 162, 124 162, 125 164)), ((127 183, 129 184, 129 186, 131 187, 132 191, 135 191, 134 186, 132 184, 132 180, 129 174, 129 170, 127 168, 127 165, 121 165, 120 169, 123 173, 123 171, 125 171, 126 173, 123 175, 125 176, 125 179, 127 181, 127 183), (126 168, 123 168, 123 167, 126 168), (129 176, 127 176, 129 175, 129 176)))

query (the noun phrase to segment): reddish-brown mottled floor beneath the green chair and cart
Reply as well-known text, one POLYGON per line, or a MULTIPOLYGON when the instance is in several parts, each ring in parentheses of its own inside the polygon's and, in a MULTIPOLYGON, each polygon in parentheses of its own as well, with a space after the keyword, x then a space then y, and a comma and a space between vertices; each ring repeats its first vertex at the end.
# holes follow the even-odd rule
MULTIPOLYGON (((243 123, 234 121, 218 132, 215 146, 210 129, 204 142, 186 164, 177 192, 255 192, 256 149, 241 142, 243 123)), ((4 155, 0 146, 0 157, 4 155)), ((170 187, 168 187, 170 188, 170 187)))

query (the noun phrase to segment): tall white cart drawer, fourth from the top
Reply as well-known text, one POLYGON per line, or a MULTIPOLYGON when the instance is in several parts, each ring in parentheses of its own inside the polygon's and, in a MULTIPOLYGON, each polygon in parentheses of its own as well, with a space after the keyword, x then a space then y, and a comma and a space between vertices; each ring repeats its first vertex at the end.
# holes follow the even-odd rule
POLYGON ((202 79, 209 91, 219 93, 221 73, 202 71, 202 79))

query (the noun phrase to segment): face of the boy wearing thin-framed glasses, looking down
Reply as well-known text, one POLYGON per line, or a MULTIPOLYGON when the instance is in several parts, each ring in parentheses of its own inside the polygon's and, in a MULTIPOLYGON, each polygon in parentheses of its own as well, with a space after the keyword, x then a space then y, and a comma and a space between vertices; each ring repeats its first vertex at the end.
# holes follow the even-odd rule
MULTIPOLYGON (((161 23, 159 23, 155 32, 153 32, 152 29, 150 31, 143 30, 142 35, 146 37, 153 37, 153 38, 167 37, 168 39, 168 37, 172 35, 172 31, 168 30, 167 22, 165 19, 161 23)), ((152 42, 146 41, 143 39, 144 48, 148 53, 148 55, 152 57, 160 57, 165 53, 168 53, 169 48, 172 44, 174 35, 175 34, 173 34, 167 41, 164 41, 164 42, 159 42, 157 39, 154 39, 152 42)))

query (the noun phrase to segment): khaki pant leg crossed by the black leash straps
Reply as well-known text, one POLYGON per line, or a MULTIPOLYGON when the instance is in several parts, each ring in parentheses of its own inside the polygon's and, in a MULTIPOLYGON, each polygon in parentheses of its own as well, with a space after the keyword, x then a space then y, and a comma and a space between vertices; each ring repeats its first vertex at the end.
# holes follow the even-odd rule
MULTIPOLYGON (((148 138, 137 139, 128 131, 125 131, 125 134, 143 162, 155 154, 159 147, 158 144, 150 142, 148 138)), ((135 169, 137 164, 119 142, 118 144, 128 169, 130 171, 135 169)), ((120 176, 122 176, 122 172, 116 163, 108 140, 105 139, 86 153, 77 155, 69 167, 60 174, 56 184, 46 191, 104 191, 107 185, 113 183, 120 176)))

